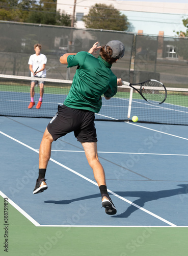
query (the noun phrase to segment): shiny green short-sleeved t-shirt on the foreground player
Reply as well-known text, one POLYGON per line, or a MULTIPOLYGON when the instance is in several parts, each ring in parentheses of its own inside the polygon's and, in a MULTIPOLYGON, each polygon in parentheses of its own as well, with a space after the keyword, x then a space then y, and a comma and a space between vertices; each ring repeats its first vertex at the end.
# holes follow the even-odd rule
POLYGON ((98 113, 102 106, 101 95, 113 97, 117 93, 117 77, 111 71, 112 65, 88 52, 69 55, 67 62, 68 68, 77 66, 77 69, 64 104, 98 113))

